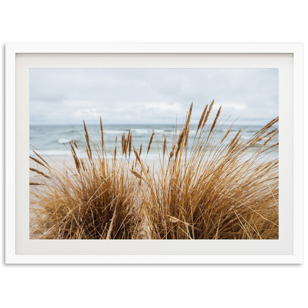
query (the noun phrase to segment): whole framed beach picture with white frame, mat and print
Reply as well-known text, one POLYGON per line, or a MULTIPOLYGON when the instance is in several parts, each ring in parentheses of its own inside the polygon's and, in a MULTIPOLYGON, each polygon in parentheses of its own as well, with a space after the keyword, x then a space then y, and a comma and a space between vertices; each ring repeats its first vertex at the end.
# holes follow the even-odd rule
POLYGON ((301 44, 6 45, 6 263, 301 263, 301 44))

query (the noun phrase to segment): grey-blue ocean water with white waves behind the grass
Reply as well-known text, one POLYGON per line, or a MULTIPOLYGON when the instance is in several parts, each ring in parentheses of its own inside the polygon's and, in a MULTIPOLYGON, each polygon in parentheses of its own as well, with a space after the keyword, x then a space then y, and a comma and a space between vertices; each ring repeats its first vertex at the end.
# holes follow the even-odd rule
MULTIPOLYGON (((244 130, 241 132, 241 139, 244 141, 249 140, 262 126, 262 125, 233 125, 232 132, 229 133, 229 136, 225 139, 224 143, 228 143, 238 132, 239 129, 244 130)), ((205 126, 207 128, 208 126, 205 126)), ((224 133, 229 128, 229 125, 218 125, 219 129, 214 134, 214 141, 219 141, 224 136, 224 133)), ((277 126, 276 126, 277 127, 277 126)), ((136 149, 140 148, 142 143, 143 151, 142 158, 145 158, 147 146, 152 132, 155 132, 155 138, 153 138, 150 151, 148 153, 148 159, 158 158, 158 146, 162 148, 162 142, 164 136, 167 138, 167 149, 168 151, 172 148, 172 135, 174 132, 174 125, 172 124, 109 124, 104 125, 104 141, 107 147, 107 151, 110 152, 109 156, 113 156, 115 137, 118 136, 117 145, 119 147, 118 153, 122 151, 121 147, 121 137, 122 133, 125 133, 127 137, 128 131, 132 133, 132 144, 136 149)), ((180 127, 178 127, 179 131, 180 127)), ((94 144, 99 144, 100 137, 100 125, 87 125, 87 130, 91 139, 91 142, 94 144)), ((197 124, 190 126, 189 139, 188 139, 188 151, 191 148, 192 142, 194 140, 197 130, 197 124)), ((30 147, 29 153, 33 155, 33 150, 38 150, 40 155, 51 157, 54 159, 70 159, 70 145, 69 141, 78 145, 79 148, 85 146, 85 135, 84 135, 83 125, 30 125, 30 147)), ((275 143, 277 140, 275 140, 275 143)), ((258 146, 258 144, 256 145, 258 146)), ((83 154, 78 153, 79 156, 83 154)), ((278 154, 277 154, 278 155, 278 154)))

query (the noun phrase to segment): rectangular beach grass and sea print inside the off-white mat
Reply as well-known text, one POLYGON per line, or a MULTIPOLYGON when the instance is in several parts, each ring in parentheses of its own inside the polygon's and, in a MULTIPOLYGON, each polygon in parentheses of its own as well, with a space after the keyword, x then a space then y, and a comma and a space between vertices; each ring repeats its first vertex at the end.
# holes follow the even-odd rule
POLYGON ((30 68, 29 238, 279 238, 276 68, 30 68))

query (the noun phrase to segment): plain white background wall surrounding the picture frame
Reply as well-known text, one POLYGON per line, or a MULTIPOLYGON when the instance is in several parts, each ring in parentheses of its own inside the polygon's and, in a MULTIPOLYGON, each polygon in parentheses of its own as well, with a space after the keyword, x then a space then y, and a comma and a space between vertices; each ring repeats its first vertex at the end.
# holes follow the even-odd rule
MULTIPOLYGON (((5 1, 0 17, 1 98, 4 101, 6 42, 301 42, 306 60, 304 4, 296 0, 5 1)), ((4 144, 4 123, 1 129, 4 144)), ((3 187, 4 183, 2 196, 3 187)), ((306 211, 304 215, 307 222, 306 211)), ((4 251, 4 227, 0 232, 4 251)), ((3 307, 304 307, 307 268, 307 264, 5 265, 3 252, 0 303, 3 307)))

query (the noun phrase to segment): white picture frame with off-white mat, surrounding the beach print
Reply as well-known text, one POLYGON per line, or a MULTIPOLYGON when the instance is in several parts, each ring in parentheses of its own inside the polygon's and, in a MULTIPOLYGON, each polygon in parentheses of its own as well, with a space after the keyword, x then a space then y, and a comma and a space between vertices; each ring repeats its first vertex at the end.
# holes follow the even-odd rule
MULTIPOLYGON (((118 61, 119 67, 131 67, 132 64, 128 64, 124 58, 125 56, 118 61)), ((302 114, 302 44, 6 44, 6 263, 302 263, 302 114), (102 245, 106 245, 105 251, 108 249, 112 252, 119 251, 119 253, 110 254, 108 252, 102 253, 100 249, 94 247, 100 244, 98 241, 29 240, 21 230, 18 230, 20 226, 25 226, 23 229, 25 230, 27 223, 29 225, 29 215, 27 216, 29 207, 26 209, 25 205, 21 207, 20 204, 20 196, 24 193, 21 186, 28 180, 28 166, 22 166, 18 159, 19 155, 28 157, 26 149, 29 144, 29 135, 25 129, 27 121, 29 121, 27 69, 30 67, 59 67, 59 63, 62 63, 61 67, 101 67, 100 55, 108 55, 112 59, 115 55, 127 54, 135 55, 134 65, 136 65, 136 61, 138 63, 138 55, 140 54, 145 55, 145 58, 147 55, 153 55, 155 58, 160 55, 168 55, 168 59, 174 55, 181 55, 184 58, 185 56, 190 57, 191 61, 187 67, 191 65, 199 67, 198 65, 201 64, 198 59, 204 55, 206 60, 202 67, 209 67, 209 65, 217 67, 219 64, 221 67, 281 68, 279 117, 280 119, 284 118, 285 121, 282 122, 284 129, 281 130, 279 127, 281 131, 279 139, 286 138, 285 146, 292 147, 293 159, 290 164, 290 160, 283 157, 283 153, 281 153, 282 156, 279 153, 279 177, 283 175, 283 178, 279 178, 279 180, 287 185, 286 189, 284 186, 279 186, 279 189, 286 194, 284 199, 291 198, 290 202, 284 207, 282 206, 281 213, 279 212, 279 220, 281 218, 279 240, 243 240, 244 242, 241 240, 195 240, 194 244, 191 244, 189 240, 177 240, 177 244, 172 241, 166 243, 165 240, 126 240, 125 243, 119 240, 117 243, 114 240, 107 240, 109 241, 108 245, 105 244, 106 242, 101 242, 102 245), (287 64, 284 63, 284 56, 288 57, 285 62, 287 64), (68 61, 64 61, 64 58, 68 61), (82 59, 87 59, 87 61, 82 62, 82 59), (285 65, 287 69, 284 70, 285 65), (291 72, 291 76, 288 74, 289 72, 291 72), (284 79, 284 77, 288 79, 284 79), (292 102, 287 101, 287 97, 290 97, 292 102), (23 102, 22 106, 25 109, 21 108, 20 102, 23 102), (289 112, 290 110, 292 110, 293 116, 289 112), (287 120, 292 123, 293 129, 290 129, 290 126, 287 127, 287 120), (287 130, 291 134, 284 137, 284 131, 287 130), (291 169, 288 166, 291 166, 291 169), (290 172, 293 172, 293 175, 290 175, 290 172), (287 175, 290 176, 289 179, 286 179, 287 175), (288 194, 288 191, 292 191, 293 198, 291 194, 288 194), (72 245, 70 246, 67 241, 72 242, 72 245), (220 242, 215 244, 217 241, 220 242), (114 246, 112 246, 113 244, 114 246), (121 252, 121 245, 126 247, 124 252, 121 252), (164 251, 166 245, 169 246, 168 252, 164 251), (208 253, 200 250, 198 245, 206 246, 208 253), (70 247, 68 248, 68 246, 70 247), (35 247, 39 247, 39 249, 35 247), (164 251, 163 254, 159 253, 160 249, 164 251), (158 253, 153 253, 154 251, 158 253), (190 251, 198 251, 198 253, 189 254, 190 251)))

